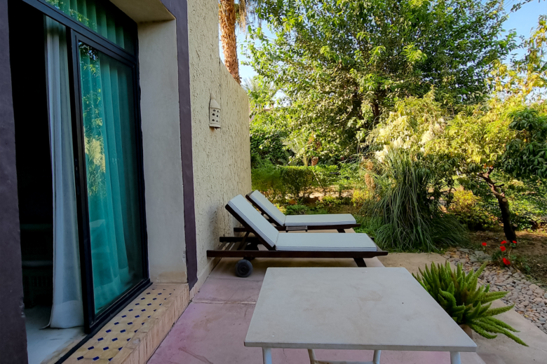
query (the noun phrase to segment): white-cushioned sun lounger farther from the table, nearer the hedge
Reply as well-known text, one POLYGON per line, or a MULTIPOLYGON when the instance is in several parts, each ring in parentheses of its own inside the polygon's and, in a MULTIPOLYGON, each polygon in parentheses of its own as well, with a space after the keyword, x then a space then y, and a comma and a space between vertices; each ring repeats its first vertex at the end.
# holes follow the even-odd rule
POLYGON ((285 215, 256 190, 247 195, 247 200, 259 209, 271 223, 274 223, 278 230, 336 229, 343 232, 344 229, 360 226, 351 214, 285 215))

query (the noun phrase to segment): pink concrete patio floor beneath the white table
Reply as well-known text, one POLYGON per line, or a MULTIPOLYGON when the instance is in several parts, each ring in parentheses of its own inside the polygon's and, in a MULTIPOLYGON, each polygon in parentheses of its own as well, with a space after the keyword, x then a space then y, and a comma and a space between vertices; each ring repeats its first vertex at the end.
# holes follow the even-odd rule
MULTIPOLYGON (((381 262, 366 260, 368 267, 381 262)), ((351 259, 257 259, 248 278, 234 274, 236 259, 224 258, 151 357, 151 364, 259 364, 262 349, 243 346, 267 267, 356 267, 351 259)), ((328 292, 325 292, 328 294, 328 292)), ((381 330, 381 328, 370 328, 381 330)), ((318 350, 321 360, 372 360, 372 351, 318 350)), ((309 363, 306 350, 273 349, 274 363, 309 363)), ((484 364, 475 353, 462 353, 465 364, 484 364)), ((382 351, 382 364, 449 364, 450 353, 382 351)))

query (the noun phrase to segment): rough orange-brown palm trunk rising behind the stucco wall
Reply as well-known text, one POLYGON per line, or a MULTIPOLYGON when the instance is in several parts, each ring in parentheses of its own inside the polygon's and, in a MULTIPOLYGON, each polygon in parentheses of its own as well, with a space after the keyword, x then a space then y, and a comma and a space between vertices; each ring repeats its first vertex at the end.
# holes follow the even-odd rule
POLYGON ((220 40, 224 53, 224 65, 238 83, 239 78, 238 48, 236 42, 236 8, 234 0, 220 0, 218 18, 220 22, 220 40))

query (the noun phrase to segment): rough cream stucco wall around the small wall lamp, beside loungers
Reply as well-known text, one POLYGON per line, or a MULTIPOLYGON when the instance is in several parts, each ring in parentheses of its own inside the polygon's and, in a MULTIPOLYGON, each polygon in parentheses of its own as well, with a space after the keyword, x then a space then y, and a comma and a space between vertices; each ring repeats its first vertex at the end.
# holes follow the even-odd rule
POLYGON ((217 0, 188 1, 192 143, 198 276, 206 251, 230 232, 224 204, 250 192, 248 99, 220 63, 217 0), (209 102, 222 109, 221 129, 209 127, 209 102))

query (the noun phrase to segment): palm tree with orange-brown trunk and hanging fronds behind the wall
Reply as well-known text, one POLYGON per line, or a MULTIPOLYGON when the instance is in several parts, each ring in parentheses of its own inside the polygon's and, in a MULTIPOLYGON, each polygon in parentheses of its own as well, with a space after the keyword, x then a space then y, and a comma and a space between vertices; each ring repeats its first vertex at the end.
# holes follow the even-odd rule
POLYGON ((254 14, 254 9, 260 0, 219 0, 218 18, 220 22, 220 40, 224 53, 224 65, 238 83, 239 63, 237 52, 236 25, 245 29, 248 16, 254 14))

